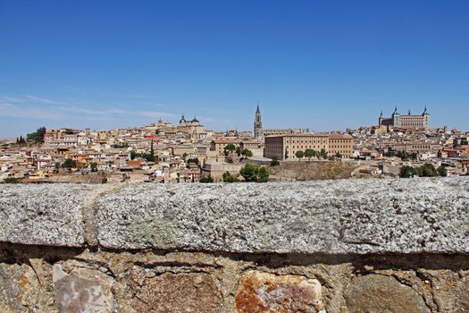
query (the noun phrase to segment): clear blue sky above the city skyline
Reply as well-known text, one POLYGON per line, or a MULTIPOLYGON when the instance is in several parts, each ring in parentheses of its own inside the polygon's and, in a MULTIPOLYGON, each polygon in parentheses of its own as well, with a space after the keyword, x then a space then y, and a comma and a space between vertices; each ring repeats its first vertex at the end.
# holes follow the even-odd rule
POLYGON ((0 1, 0 137, 177 123, 469 129, 469 1, 0 1))

